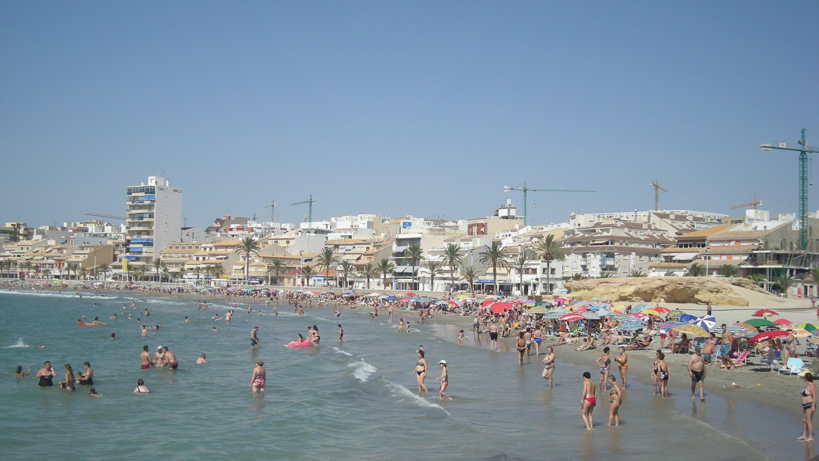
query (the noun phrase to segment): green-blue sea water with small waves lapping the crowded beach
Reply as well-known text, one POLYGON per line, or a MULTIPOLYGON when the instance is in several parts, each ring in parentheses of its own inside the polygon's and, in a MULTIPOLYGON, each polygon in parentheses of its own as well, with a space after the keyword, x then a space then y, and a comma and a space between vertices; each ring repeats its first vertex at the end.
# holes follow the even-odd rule
MULTIPOLYGON (((202 299, 206 300, 206 299, 202 299)), ((233 321, 213 322, 229 302, 192 299, 0 292, 0 440, 3 459, 803 459, 794 439, 800 422, 767 405, 709 395, 691 403, 631 381, 621 426, 605 426, 608 400, 600 394, 595 430, 580 418, 584 367, 558 362, 546 387, 539 363, 518 367, 514 354, 486 349, 486 341, 455 345, 457 329, 413 318, 399 333, 397 313, 374 320, 358 313, 333 317, 329 308, 297 316, 280 304, 247 304, 233 321), (131 309, 131 302, 137 309, 131 309), (95 307, 94 303, 100 303, 95 307), (123 309, 123 305, 126 308, 123 309), (144 309, 150 317, 143 315, 144 309), (263 315, 258 315, 261 309, 263 315), (118 314, 113 320, 108 317, 118 314), (128 314, 134 320, 127 320, 128 314), (76 326, 99 316, 106 326, 76 326), (188 316, 190 323, 184 324, 188 316), (136 318, 140 317, 141 322, 136 318), (337 323, 345 342, 337 340, 337 323), (139 326, 161 323, 140 336, 139 326), (284 344, 319 326, 321 345, 284 344), (211 331, 216 326, 217 331, 211 331), (259 326, 261 346, 249 333, 259 326), (116 333, 111 340, 111 333, 116 333), (31 347, 25 347, 30 345, 31 347), (46 346, 41 349, 40 345, 46 346), (168 346, 179 369, 142 370, 139 353, 168 346), (429 393, 415 385, 415 349, 423 345, 429 393), (477 346, 477 347, 475 347, 477 346), (195 364, 207 354, 207 363, 195 364), (265 362, 264 394, 252 393, 256 359, 265 362), (438 361, 449 363, 452 400, 437 397, 438 361), (34 373, 49 360, 55 386, 39 388, 34 373), (87 386, 61 390, 63 365, 75 372, 88 361, 102 396, 87 386), (16 365, 30 377, 11 377, 16 365), (7 373, 5 373, 7 372, 7 373), (151 390, 132 393, 142 378, 151 390)), ((589 370, 595 374, 595 370, 589 370)), ((594 377, 596 380, 596 376, 594 377)), ((681 378, 682 379, 682 378, 681 378)))

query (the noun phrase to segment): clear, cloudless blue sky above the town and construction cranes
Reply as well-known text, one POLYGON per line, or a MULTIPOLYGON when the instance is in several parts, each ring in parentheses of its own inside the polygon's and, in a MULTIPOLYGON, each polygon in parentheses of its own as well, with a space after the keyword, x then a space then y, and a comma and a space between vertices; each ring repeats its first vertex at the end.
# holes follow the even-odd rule
MULTIPOLYGON (((0 221, 797 209, 819 2, 0 2, 0 221)), ((811 208, 819 209, 819 163, 811 208)), ((278 221, 278 219, 277 219, 278 221)))

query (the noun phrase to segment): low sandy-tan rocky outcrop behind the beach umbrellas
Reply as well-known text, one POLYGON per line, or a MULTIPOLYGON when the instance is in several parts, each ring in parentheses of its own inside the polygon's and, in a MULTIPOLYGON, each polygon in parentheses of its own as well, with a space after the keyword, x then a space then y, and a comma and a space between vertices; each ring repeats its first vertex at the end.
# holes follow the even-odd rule
POLYGON ((568 296, 573 299, 598 298, 613 302, 749 305, 744 290, 735 290, 735 286, 776 299, 753 281, 742 278, 611 277, 568 281, 565 285, 569 292, 568 296))

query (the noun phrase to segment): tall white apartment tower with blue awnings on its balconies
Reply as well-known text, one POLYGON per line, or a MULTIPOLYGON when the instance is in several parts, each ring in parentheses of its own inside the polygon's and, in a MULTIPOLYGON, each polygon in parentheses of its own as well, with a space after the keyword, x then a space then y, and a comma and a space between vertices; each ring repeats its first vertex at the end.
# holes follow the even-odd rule
POLYGON ((125 259, 129 264, 152 264, 155 254, 179 241, 182 189, 171 187, 162 176, 148 176, 147 184, 128 186, 125 200, 125 259))

